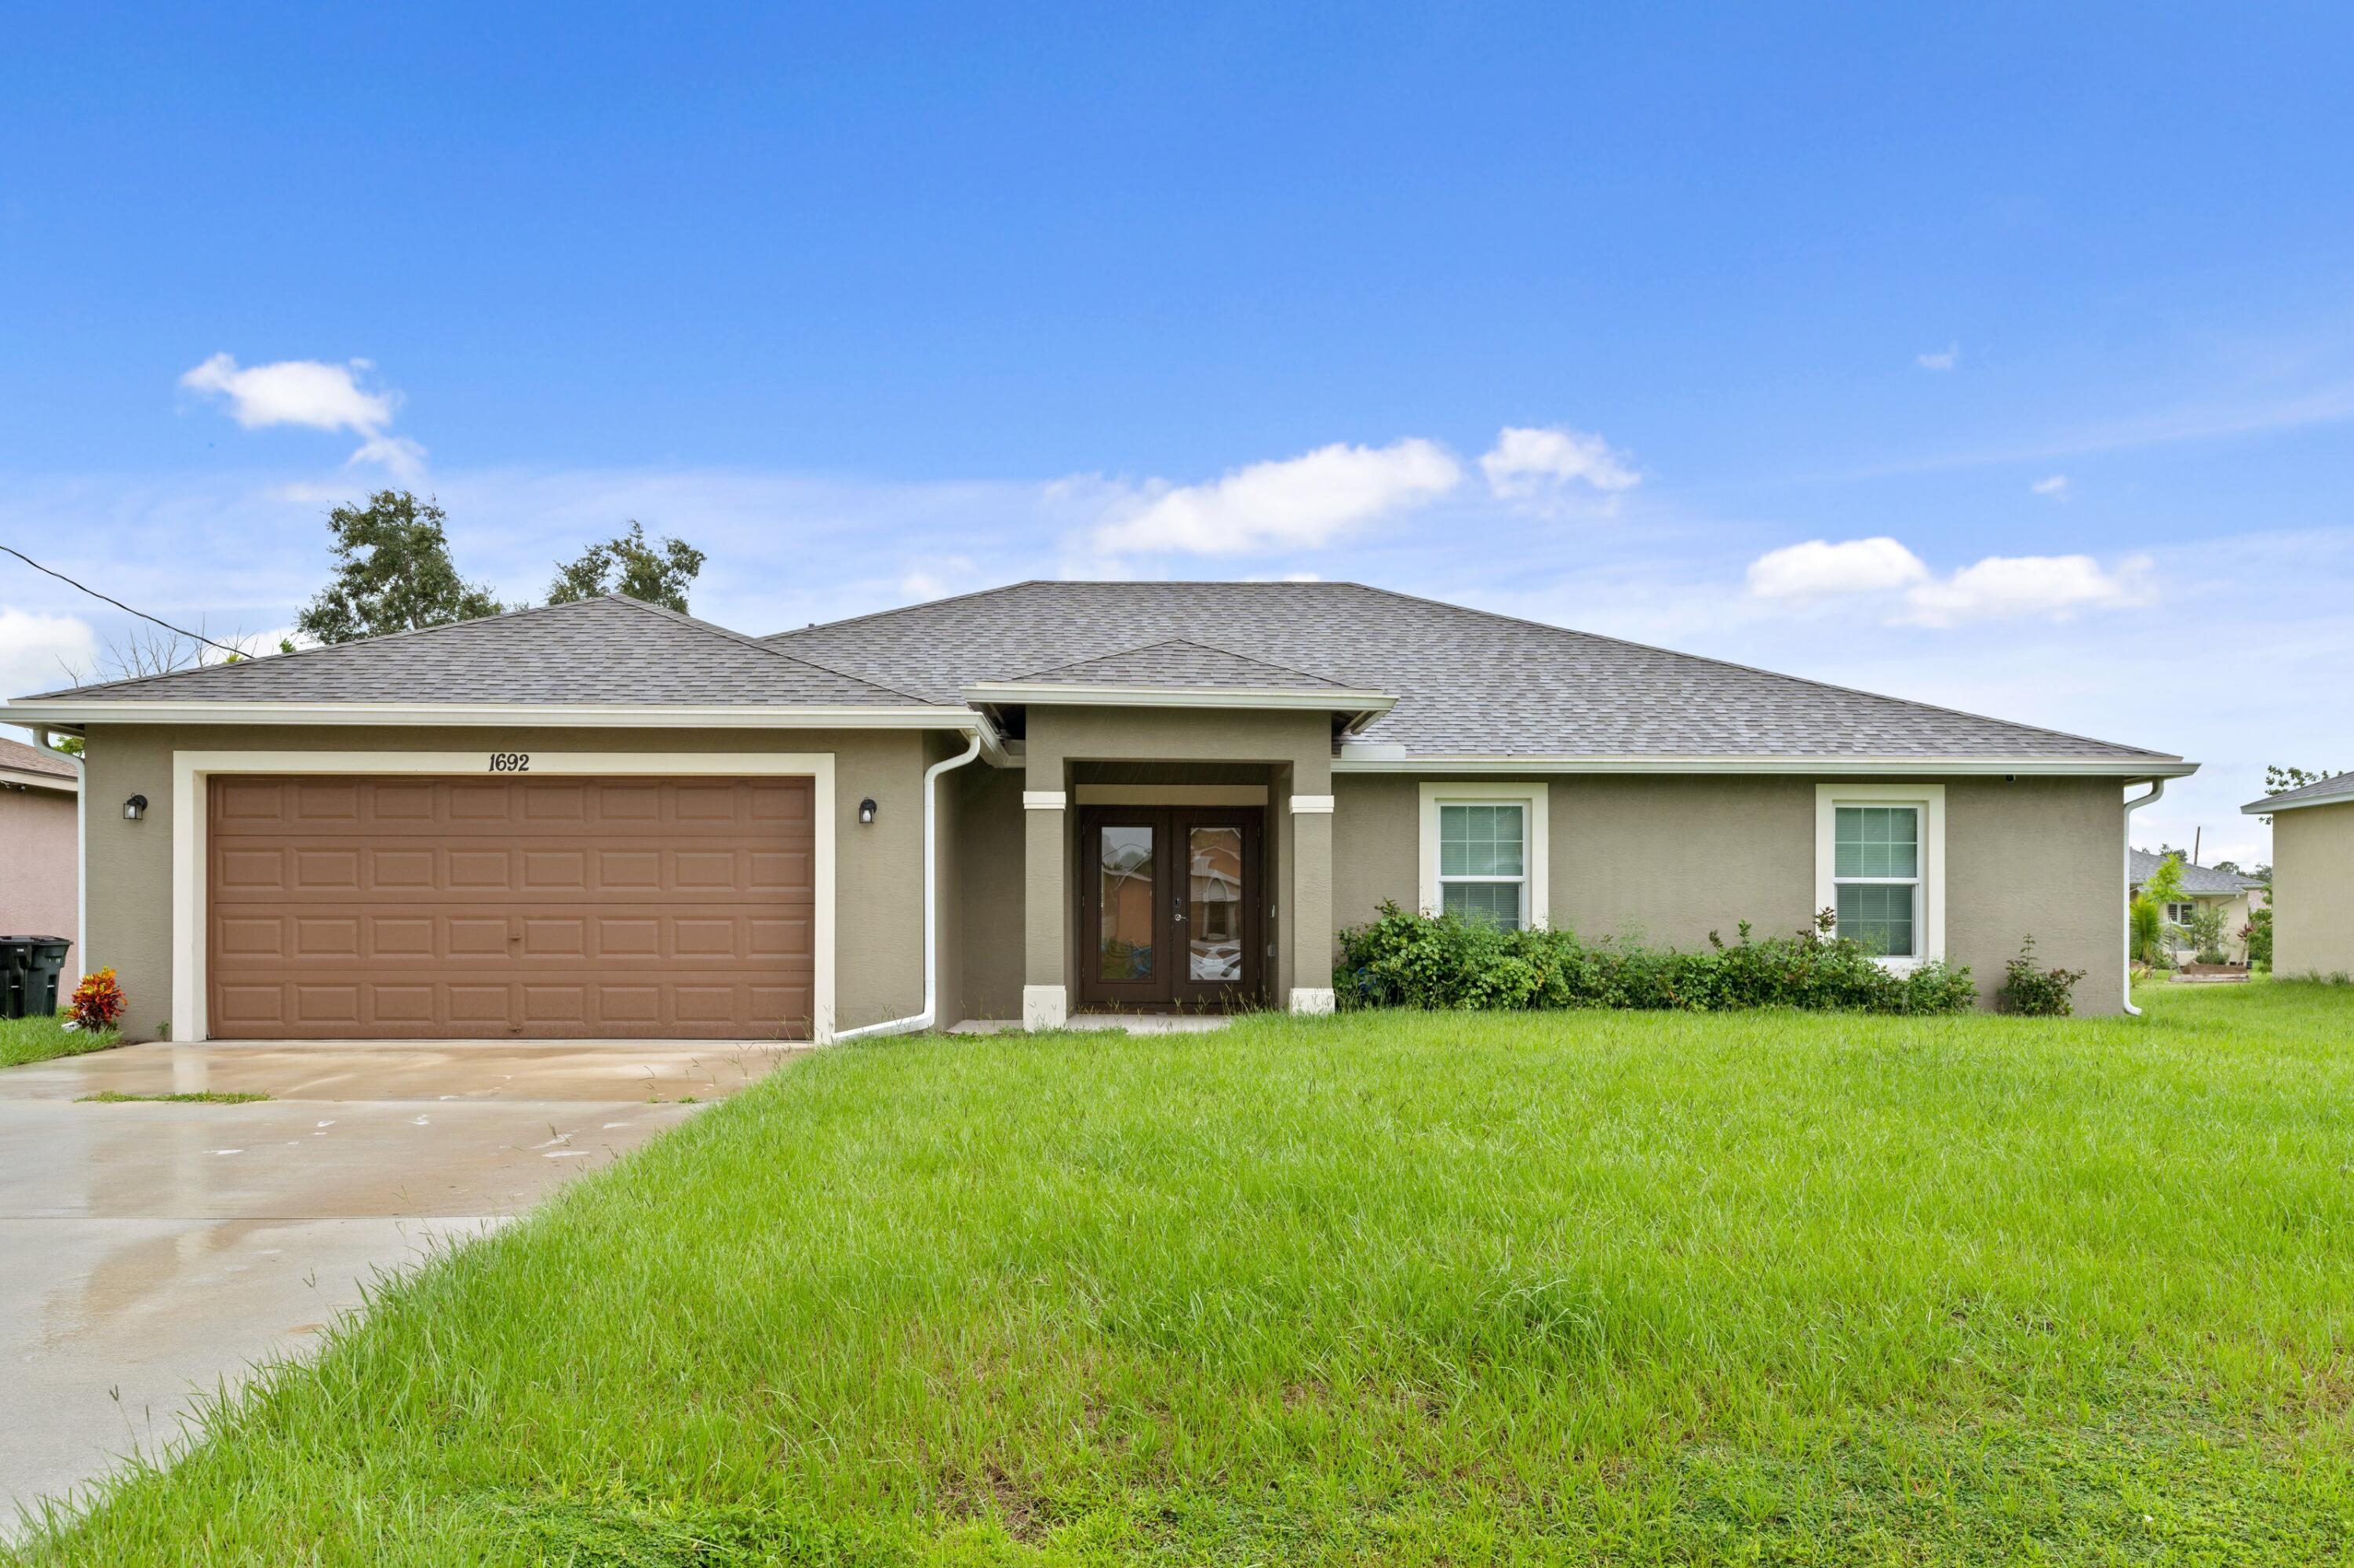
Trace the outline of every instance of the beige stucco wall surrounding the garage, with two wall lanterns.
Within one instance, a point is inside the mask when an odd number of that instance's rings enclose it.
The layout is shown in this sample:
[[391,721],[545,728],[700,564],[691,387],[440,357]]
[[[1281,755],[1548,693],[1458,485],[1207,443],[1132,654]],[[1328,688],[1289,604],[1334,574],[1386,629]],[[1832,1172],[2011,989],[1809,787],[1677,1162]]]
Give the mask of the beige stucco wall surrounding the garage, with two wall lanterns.
[[[836,1029],[923,1008],[923,768],[942,751],[920,730],[485,730],[292,725],[92,725],[89,961],[115,965],[132,1038],[172,1017],[174,751],[621,751],[833,753]],[[951,775],[953,777],[953,775]],[[125,822],[127,796],[144,822]],[[876,822],[862,826],[859,800]],[[106,803],[106,810],[99,810]]]

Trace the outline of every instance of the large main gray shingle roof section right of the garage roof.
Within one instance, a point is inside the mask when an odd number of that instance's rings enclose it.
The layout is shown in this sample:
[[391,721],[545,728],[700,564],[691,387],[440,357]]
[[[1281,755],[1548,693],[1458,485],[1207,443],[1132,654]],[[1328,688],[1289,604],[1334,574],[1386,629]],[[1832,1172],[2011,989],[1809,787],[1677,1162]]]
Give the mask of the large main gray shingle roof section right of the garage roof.
[[765,640],[953,702],[1168,638],[1396,692],[1363,739],[1422,756],[2180,760],[1342,582],[1024,582]]

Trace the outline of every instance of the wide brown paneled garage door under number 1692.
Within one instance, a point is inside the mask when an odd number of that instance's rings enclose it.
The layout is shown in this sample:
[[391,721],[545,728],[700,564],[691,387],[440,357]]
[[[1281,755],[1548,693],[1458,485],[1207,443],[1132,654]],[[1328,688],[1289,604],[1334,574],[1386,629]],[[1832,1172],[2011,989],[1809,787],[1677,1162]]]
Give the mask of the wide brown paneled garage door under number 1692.
[[810,1036],[810,779],[210,793],[214,1038]]

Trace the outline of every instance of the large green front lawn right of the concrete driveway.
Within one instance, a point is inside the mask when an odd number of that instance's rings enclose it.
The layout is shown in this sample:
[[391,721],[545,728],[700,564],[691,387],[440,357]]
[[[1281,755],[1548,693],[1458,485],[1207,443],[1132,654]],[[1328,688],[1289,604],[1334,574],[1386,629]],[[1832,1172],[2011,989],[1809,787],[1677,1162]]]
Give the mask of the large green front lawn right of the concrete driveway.
[[78,1563],[2326,1561],[2354,991],[817,1052]]

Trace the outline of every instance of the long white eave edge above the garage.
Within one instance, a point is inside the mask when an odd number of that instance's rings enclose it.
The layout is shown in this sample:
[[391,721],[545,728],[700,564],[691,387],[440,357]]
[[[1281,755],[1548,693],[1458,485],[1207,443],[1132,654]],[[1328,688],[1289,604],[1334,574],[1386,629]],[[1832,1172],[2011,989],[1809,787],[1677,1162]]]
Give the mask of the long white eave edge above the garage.
[[560,725],[581,730],[975,730],[949,704],[725,702],[12,702],[0,723],[108,725]]

